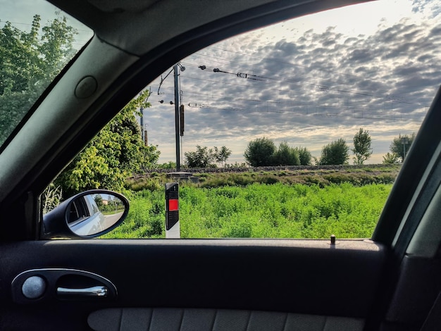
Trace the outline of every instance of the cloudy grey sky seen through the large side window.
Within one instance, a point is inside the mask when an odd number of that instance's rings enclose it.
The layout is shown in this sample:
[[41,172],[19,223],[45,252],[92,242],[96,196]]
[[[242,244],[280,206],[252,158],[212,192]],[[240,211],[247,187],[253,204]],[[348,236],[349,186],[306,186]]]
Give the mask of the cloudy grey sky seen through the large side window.
[[[339,138],[352,148],[363,127],[373,142],[368,163],[381,163],[394,137],[418,132],[440,86],[440,11],[420,0],[349,6],[182,59],[183,153],[197,144],[225,145],[232,150],[228,163],[240,163],[249,141],[268,137],[319,157]],[[173,73],[159,89],[160,81],[148,87],[144,120],[149,144],[159,145],[166,162],[175,160]]]

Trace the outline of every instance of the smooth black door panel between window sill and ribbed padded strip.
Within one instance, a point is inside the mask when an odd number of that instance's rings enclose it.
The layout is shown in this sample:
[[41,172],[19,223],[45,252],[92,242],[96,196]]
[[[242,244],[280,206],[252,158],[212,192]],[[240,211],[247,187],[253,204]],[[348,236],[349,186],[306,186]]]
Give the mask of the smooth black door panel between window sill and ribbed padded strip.
[[[16,242],[1,247],[1,260],[7,266],[0,270],[1,296],[2,302],[8,302],[4,314],[15,316],[12,321],[25,323],[23,313],[30,310],[43,317],[47,330],[58,325],[59,321],[51,319],[54,311],[76,330],[77,323],[85,325],[89,313],[106,307],[217,308],[366,318],[386,253],[383,246],[363,240],[336,244],[284,239]],[[11,256],[15,263],[8,261]],[[67,300],[54,295],[50,302],[13,303],[13,279],[39,268],[95,273],[113,282],[118,295]],[[70,316],[72,310],[77,312],[74,316]],[[32,323],[28,316],[25,320]]]

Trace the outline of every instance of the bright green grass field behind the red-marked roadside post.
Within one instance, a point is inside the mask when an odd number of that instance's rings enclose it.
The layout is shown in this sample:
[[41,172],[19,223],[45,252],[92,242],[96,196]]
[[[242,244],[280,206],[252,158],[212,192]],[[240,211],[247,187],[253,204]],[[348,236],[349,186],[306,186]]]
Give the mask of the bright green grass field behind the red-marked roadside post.
[[[182,238],[368,238],[392,184],[254,182],[180,187]],[[161,185],[126,192],[130,212],[105,238],[165,237]]]

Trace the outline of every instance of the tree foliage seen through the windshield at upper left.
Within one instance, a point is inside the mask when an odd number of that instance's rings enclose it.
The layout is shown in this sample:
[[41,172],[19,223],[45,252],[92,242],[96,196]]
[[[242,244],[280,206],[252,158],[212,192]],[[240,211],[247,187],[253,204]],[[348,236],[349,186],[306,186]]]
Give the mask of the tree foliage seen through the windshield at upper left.
[[35,15],[30,32],[6,22],[0,30],[0,144],[75,53],[73,27],[56,18],[42,27]]

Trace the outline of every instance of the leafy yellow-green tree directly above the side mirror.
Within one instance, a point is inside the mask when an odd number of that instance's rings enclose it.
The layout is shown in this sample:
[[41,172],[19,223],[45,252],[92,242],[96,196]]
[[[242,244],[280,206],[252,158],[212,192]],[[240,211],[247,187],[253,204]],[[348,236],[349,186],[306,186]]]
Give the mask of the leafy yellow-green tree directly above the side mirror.
[[132,99],[56,178],[66,196],[86,189],[120,191],[125,178],[156,163],[156,146],[144,146],[135,114],[147,108],[146,90]]

